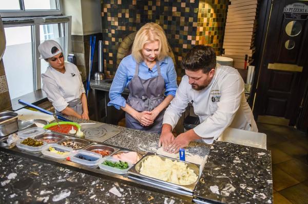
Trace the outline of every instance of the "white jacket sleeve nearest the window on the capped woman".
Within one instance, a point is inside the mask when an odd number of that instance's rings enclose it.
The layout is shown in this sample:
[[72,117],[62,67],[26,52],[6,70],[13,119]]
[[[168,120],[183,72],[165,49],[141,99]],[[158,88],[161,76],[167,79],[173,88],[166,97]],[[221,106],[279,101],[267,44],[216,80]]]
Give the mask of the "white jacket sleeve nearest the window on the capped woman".
[[62,95],[60,94],[59,87],[55,85],[55,82],[52,79],[44,76],[42,76],[42,78],[43,78],[42,89],[46,93],[48,100],[52,103],[53,107],[57,111],[61,112],[68,106],[68,103],[62,97]]

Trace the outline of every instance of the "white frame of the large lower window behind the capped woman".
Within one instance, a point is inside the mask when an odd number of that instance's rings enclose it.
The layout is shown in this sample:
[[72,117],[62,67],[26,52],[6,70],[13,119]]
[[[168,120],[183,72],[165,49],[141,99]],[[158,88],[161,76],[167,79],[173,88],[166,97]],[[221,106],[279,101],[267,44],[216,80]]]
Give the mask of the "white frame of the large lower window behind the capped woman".
[[40,38],[40,25],[46,24],[65,24],[64,35],[66,42],[64,45],[65,60],[67,60],[68,53],[71,53],[71,16],[46,16],[46,17],[23,17],[23,18],[3,18],[4,28],[9,27],[21,27],[32,26],[32,61],[33,61],[33,74],[34,74],[34,89],[38,90],[42,88],[41,79],[41,59],[40,52],[38,52],[38,46],[41,43]]

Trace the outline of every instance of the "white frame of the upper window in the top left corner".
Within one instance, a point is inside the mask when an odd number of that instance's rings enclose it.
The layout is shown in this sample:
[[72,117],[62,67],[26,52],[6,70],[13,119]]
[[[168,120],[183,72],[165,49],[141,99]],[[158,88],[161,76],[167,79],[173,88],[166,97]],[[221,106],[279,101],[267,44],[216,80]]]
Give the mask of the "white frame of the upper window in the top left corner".
[[29,16],[48,16],[48,15],[62,15],[63,3],[62,0],[55,0],[57,9],[49,10],[25,10],[24,0],[20,2],[21,10],[0,10],[2,17],[29,17]]

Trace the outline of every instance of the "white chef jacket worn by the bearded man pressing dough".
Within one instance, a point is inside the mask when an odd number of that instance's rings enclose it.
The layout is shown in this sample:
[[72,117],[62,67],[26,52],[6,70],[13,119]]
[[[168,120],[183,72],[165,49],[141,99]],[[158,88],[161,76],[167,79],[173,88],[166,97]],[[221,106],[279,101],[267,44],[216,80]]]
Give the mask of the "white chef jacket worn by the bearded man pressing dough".
[[163,124],[174,129],[189,102],[200,119],[194,131],[205,143],[213,143],[227,127],[258,131],[244,95],[243,79],[233,67],[218,65],[210,84],[202,90],[192,89],[188,76],[183,76]]

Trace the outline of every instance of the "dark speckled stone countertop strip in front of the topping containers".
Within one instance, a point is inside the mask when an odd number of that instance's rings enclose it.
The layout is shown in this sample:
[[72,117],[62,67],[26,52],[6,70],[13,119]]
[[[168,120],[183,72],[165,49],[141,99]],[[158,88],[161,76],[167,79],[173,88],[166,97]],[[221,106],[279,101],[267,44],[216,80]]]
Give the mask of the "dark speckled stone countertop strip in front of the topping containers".
[[190,203],[0,151],[0,203]]

